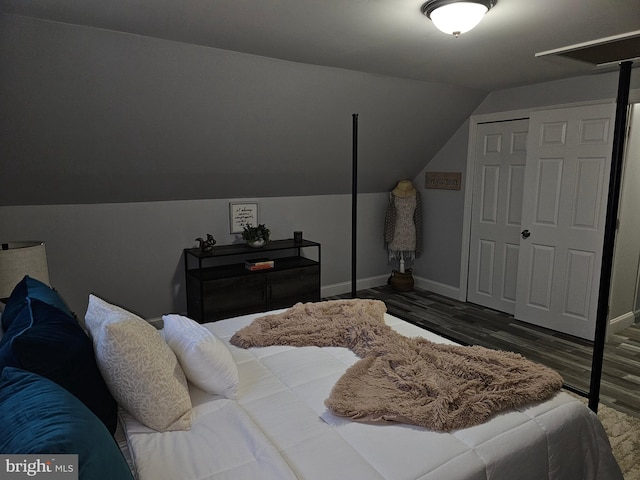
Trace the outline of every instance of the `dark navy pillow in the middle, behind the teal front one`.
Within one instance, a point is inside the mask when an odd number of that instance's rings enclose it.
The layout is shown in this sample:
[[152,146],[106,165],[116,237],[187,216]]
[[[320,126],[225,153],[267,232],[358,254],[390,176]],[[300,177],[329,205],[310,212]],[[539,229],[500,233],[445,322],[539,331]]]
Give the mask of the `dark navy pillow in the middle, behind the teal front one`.
[[114,433],[118,405],[98,369],[91,339],[62,310],[27,299],[0,339],[0,371],[17,367],[54,381],[82,401]]

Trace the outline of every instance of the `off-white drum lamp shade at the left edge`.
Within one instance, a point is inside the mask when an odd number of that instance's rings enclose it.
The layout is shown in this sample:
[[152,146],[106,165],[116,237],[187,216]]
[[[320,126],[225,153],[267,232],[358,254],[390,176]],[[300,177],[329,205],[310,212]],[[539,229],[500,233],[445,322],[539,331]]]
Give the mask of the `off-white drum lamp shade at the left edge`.
[[49,268],[44,242],[0,244],[0,299],[8,298],[25,275],[49,285]]

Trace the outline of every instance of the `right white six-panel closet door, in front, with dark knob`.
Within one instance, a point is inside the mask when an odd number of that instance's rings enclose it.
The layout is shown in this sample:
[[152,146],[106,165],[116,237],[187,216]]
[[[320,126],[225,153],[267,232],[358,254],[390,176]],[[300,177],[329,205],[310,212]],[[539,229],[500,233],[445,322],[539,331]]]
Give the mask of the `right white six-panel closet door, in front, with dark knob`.
[[515,316],[592,340],[615,105],[534,112]]

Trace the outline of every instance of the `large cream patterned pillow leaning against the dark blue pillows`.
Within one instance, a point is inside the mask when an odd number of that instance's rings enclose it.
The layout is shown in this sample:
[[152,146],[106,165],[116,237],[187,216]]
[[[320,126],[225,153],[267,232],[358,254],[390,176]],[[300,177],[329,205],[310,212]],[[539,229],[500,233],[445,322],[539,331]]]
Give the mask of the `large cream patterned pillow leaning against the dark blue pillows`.
[[85,323],[116,401],[158,431],[191,428],[191,398],[178,359],[142,318],[89,295]]

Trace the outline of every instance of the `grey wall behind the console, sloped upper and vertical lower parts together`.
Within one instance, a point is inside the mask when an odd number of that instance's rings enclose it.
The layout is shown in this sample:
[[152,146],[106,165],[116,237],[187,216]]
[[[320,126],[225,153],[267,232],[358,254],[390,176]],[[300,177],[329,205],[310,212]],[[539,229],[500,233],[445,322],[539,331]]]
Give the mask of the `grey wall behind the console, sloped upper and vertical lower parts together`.
[[358,113],[358,278],[384,283],[386,192],[484,96],[0,15],[0,239],[47,242],[77,312],[94,291],[155,316],[184,310],[182,249],[231,241],[229,201],[257,199],[275,238],[323,244],[323,293],[348,292]]

